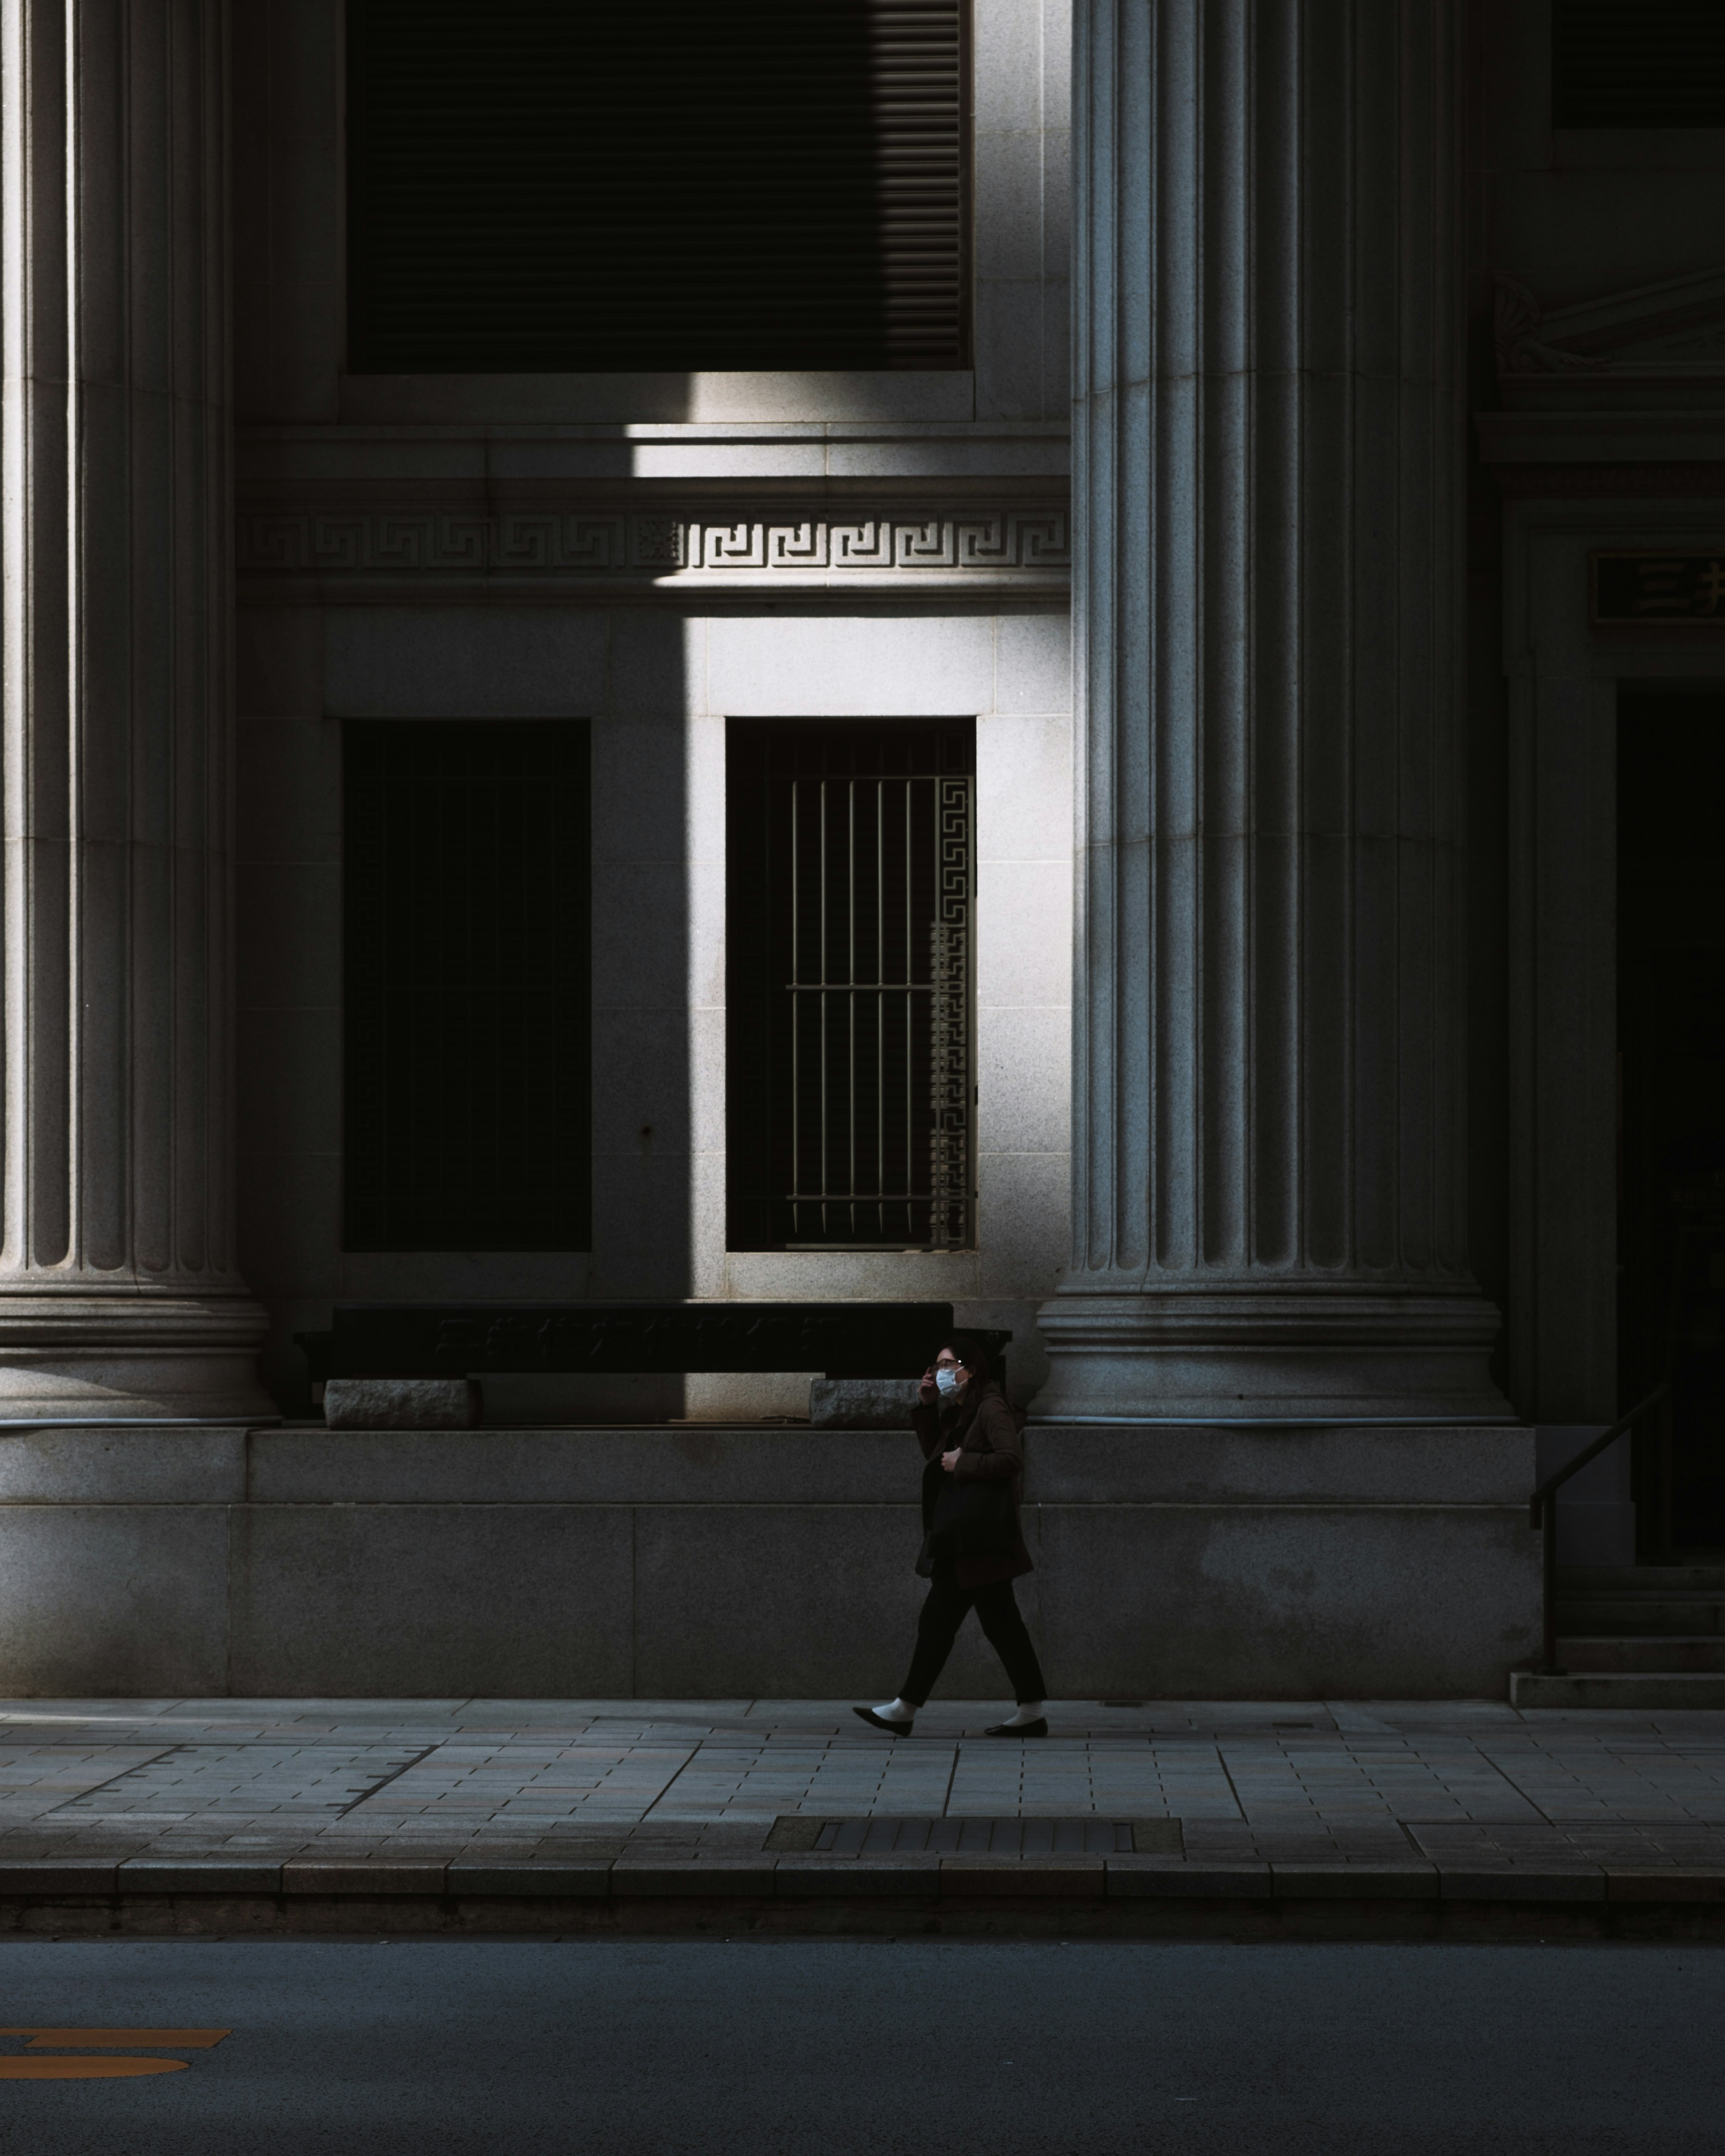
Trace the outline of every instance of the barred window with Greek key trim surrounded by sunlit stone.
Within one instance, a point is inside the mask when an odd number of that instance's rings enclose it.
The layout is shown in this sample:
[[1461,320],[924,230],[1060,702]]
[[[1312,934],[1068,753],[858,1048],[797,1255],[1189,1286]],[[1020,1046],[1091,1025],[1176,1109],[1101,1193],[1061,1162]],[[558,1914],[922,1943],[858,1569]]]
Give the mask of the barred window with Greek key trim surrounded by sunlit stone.
[[729,729],[729,1242],[966,1248],[968,720]]

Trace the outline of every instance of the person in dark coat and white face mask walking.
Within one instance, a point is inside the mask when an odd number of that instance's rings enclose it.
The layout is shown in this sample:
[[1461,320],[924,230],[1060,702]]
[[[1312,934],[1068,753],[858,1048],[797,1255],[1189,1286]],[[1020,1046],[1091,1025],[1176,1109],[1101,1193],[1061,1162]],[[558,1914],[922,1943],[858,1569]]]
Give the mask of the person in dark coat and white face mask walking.
[[947,1341],[923,1373],[910,1425],[925,1460],[923,1554],[916,1570],[929,1580],[929,1593],[899,1697],[852,1712],[871,1729],[910,1736],[916,1710],[947,1667],[957,1628],[975,1608],[1018,1699],[1018,1712],[994,1723],[988,1736],[1046,1738],[1041,1664],[1011,1591],[1011,1583],[1033,1570],[1018,1524],[1024,1445],[1018,1416],[994,1382],[979,1341],[962,1332]]

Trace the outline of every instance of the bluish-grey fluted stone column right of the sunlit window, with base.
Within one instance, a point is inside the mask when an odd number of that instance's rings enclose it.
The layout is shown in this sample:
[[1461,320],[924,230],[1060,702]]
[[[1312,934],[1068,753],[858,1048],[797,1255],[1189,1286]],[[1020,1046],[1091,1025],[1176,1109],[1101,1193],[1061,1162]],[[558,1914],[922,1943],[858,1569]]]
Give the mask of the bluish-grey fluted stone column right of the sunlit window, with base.
[[1037,1414],[1501,1416],[1460,0],[1078,0],[1074,1259]]

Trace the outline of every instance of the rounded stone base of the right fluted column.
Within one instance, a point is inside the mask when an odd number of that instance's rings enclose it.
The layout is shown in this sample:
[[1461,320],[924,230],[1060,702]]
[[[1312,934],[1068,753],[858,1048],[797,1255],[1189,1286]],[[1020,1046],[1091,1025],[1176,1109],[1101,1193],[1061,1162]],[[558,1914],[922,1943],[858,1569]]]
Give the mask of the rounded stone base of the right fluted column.
[[1208,1287],[1044,1302],[1039,1423],[1514,1423],[1477,1291]]

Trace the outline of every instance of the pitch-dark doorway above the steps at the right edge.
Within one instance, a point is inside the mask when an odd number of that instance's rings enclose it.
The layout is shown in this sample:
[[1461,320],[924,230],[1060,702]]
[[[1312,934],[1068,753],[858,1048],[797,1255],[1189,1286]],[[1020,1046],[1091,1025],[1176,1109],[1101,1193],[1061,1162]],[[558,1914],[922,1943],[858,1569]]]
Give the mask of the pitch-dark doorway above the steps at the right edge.
[[1725,1548],[1725,692],[1617,705],[1619,1371],[1645,1557]]

